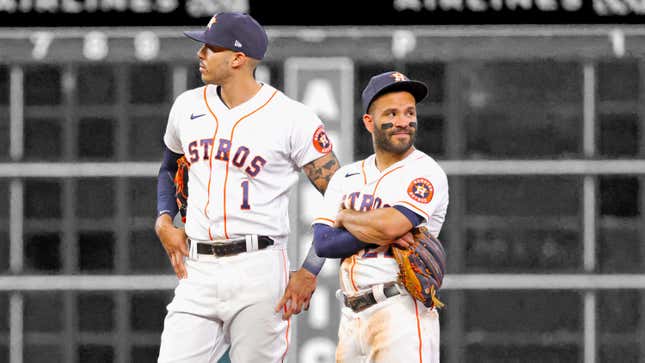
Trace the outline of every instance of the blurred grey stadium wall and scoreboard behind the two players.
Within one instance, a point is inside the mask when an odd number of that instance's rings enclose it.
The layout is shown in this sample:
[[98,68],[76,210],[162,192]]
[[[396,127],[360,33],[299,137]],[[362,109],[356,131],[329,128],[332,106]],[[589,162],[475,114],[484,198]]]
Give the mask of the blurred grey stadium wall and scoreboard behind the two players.
[[[0,1],[0,362],[155,361],[176,283],[152,230],[161,136],[200,84],[181,31],[231,9],[267,24],[258,78],[319,113],[342,163],[371,153],[372,74],[430,85],[417,147],[451,187],[442,361],[645,362],[645,4],[304,4]],[[319,198],[293,194],[292,266]],[[337,266],[291,362],[333,361]]]

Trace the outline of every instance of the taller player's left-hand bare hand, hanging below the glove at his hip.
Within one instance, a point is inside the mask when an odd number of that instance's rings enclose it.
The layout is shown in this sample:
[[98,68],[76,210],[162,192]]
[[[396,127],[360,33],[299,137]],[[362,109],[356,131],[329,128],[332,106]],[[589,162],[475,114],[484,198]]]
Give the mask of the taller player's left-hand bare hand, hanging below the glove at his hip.
[[184,257],[188,256],[186,232],[182,228],[175,227],[168,214],[162,214],[157,218],[155,232],[164,250],[166,250],[177,277],[179,279],[188,277],[186,266],[184,265]]

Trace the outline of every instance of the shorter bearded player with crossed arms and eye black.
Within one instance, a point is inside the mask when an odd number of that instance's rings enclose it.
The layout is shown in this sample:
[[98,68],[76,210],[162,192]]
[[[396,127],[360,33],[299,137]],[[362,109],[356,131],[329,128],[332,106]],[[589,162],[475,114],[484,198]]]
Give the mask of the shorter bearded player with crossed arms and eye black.
[[407,247],[417,226],[437,236],[448,207],[446,174],[413,146],[427,92],[399,72],[371,78],[363,123],[375,153],[339,169],[314,221],[316,253],[343,258],[337,362],[439,362],[437,311],[397,284],[391,249]]

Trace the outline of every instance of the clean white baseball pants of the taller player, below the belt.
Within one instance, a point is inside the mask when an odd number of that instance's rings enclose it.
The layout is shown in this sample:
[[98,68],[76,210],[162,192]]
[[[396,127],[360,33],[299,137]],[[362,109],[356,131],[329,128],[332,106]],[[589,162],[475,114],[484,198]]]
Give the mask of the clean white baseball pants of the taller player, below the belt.
[[[284,247],[186,259],[161,335],[159,363],[283,362],[290,322],[273,309],[289,278]],[[204,261],[205,260],[205,261]]]

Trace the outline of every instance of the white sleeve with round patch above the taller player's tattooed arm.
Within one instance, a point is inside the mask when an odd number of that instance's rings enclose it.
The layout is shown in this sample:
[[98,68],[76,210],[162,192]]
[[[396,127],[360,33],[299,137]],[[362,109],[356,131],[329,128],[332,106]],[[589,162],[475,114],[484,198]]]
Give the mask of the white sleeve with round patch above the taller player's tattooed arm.
[[316,114],[304,106],[296,112],[291,133],[291,159],[302,168],[308,163],[327,155],[332,144],[325,127]]

